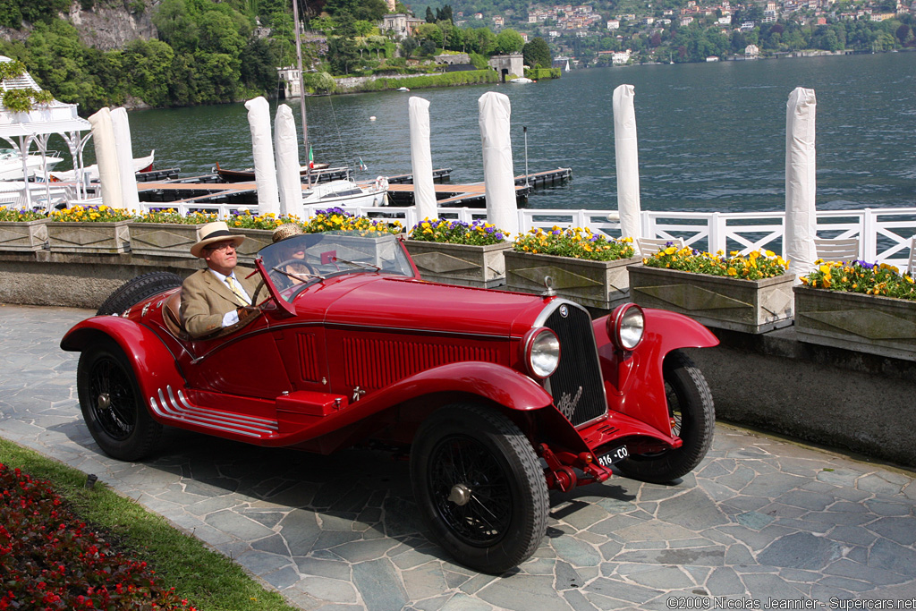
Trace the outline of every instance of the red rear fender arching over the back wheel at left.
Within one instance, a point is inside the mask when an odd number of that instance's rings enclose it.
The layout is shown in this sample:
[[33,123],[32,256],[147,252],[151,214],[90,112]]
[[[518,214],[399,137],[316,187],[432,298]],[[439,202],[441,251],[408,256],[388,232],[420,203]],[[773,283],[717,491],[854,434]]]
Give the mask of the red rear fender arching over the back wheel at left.
[[[102,336],[113,339],[127,355],[147,408],[149,398],[157,395],[158,388],[170,386],[178,391],[185,387],[175,357],[156,333],[125,318],[95,316],[78,322],[60,340],[60,348],[70,352],[82,352]],[[168,422],[159,418],[152,410],[150,415],[160,422]]]

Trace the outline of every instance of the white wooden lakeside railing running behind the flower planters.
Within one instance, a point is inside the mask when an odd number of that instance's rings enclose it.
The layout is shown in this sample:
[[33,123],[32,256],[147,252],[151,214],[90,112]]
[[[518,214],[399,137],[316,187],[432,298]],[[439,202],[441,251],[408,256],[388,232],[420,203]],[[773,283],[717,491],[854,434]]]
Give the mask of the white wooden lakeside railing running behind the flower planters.
[[[226,217],[241,210],[257,212],[257,206],[242,206],[212,202],[146,202],[149,208],[173,208],[180,213],[202,211]],[[303,218],[328,204],[303,206]],[[417,224],[413,206],[352,206],[347,212],[372,218],[398,220],[408,229]],[[486,218],[483,208],[440,208],[441,218],[457,219],[467,223]],[[747,254],[752,250],[772,250],[785,256],[782,249],[785,213],[689,213],[680,211],[642,212],[642,232],[645,237],[681,237],[686,245],[698,250],[725,253],[733,250]],[[537,210],[518,211],[518,226],[522,233],[532,227],[548,228],[588,227],[594,233],[619,236],[620,222],[616,211],[608,210]],[[916,235],[916,208],[885,208],[873,210],[818,211],[817,235],[819,237],[857,237],[862,247],[859,256],[868,262],[888,263],[907,267],[910,256],[910,239]]]

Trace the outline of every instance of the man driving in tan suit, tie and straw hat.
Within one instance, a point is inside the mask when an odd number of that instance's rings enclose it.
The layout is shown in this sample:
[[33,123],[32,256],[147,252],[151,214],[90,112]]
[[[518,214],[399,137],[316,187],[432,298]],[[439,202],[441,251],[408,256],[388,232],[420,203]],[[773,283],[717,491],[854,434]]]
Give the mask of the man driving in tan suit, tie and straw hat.
[[191,255],[207,262],[181,285],[181,322],[193,338],[231,327],[256,311],[259,295],[254,280],[236,276],[236,249],[245,235],[234,235],[224,221],[203,225]]

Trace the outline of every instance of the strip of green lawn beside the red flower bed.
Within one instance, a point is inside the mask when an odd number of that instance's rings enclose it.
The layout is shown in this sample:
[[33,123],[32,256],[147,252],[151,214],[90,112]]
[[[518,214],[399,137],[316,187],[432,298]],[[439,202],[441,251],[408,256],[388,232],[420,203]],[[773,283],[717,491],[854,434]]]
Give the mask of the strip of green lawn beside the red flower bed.
[[292,611],[281,595],[268,592],[240,566],[173,529],[156,514],[119,496],[101,482],[92,489],[86,474],[13,442],[0,439],[0,463],[48,480],[80,518],[114,535],[115,546],[145,561],[182,598],[206,611]]

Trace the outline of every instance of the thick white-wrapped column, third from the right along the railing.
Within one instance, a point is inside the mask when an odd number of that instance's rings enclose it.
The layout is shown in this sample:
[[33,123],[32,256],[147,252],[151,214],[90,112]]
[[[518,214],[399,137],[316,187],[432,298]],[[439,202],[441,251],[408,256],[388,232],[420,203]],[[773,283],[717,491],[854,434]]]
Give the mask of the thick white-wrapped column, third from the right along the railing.
[[487,92],[480,96],[477,106],[480,138],[484,145],[487,220],[515,237],[518,235],[518,204],[509,138],[509,98],[503,93]]

